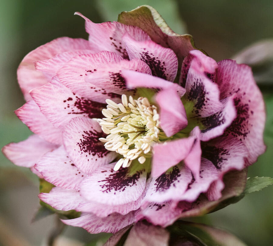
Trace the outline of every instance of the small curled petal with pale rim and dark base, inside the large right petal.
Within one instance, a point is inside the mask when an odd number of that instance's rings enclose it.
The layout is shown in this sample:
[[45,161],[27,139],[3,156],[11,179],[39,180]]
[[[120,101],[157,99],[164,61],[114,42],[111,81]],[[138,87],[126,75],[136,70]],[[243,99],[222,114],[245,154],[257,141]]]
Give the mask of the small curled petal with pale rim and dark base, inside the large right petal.
[[234,106],[234,96],[227,97],[221,100],[223,103],[222,109],[206,118],[199,118],[198,122],[201,123],[201,140],[208,141],[217,136],[221,136],[225,129],[231,125],[236,118],[236,109]]

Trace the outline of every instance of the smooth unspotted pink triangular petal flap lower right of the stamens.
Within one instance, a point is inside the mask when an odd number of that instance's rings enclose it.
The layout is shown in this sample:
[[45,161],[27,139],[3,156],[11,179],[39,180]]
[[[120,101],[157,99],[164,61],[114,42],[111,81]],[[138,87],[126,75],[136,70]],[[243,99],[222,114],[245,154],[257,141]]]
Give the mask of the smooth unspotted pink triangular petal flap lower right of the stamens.
[[158,177],[170,167],[187,157],[194,143],[194,137],[178,139],[153,146],[152,177]]

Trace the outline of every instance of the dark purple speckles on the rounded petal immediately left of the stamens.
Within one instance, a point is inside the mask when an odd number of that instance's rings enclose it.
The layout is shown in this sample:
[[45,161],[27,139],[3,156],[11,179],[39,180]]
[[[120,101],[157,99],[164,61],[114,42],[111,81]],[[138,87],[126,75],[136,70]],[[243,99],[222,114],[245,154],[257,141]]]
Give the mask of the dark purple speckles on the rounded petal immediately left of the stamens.
[[[99,141],[100,137],[105,137],[105,134],[102,132],[99,133],[94,129],[92,131],[83,131],[82,138],[77,143],[80,148],[79,153],[87,153],[92,156],[97,155],[100,158],[106,156],[109,151],[105,149],[103,144]],[[93,160],[93,157],[90,159]]]

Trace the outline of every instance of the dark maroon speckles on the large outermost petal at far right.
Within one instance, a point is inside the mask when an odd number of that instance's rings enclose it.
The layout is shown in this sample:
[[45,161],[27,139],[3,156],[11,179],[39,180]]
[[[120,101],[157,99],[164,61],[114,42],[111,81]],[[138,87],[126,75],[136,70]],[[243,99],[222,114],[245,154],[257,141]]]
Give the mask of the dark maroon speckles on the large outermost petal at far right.
[[[237,137],[239,140],[245,139],[250,130],[248,129],[249,119],[249,105],[241,102],[240,98],[234,99],[234,105],[236,107],[237,117],[226,129],[224,135],[231,134]],[[250,112],[253,114],[253,111]]]

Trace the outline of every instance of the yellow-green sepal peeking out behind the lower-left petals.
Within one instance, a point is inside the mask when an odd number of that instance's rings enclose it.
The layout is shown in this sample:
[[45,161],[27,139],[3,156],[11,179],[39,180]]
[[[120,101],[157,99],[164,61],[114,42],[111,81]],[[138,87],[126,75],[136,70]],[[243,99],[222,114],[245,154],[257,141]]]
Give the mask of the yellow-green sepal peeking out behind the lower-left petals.
[[[39,180],[40,180],[40,185],[39,185],[40,193],[49,193],[51,191],[51,189],[53,187],[55,187],[55,185],[45,181],[44,179],[39,179]],[[81,212],[77,212],[76,210],[69,210],[69,211],[57,210],[41,200],[40,200],[40,205],[43,208],[51,211],[51,213],[49,211],[45,212],[46,210],[43,210],[43,209],[41,209],[41,211],[40,211],[40,209],[39,209],[37,214],[34,216],[34,219],[36,218],[37,215],[38,215],[38,219],[39,219],[39,216],[40,216],[39,211],[43,212],[44,214],[47,214],[47,215],[56,213],[59,217],[62,217],[62,218],[66,217],[68,219],[78,218],[81,215]],[[43,217],[45,217],[45,216],[43,216]],[[42,217],[40,217],[40,218],[42,218]]]

